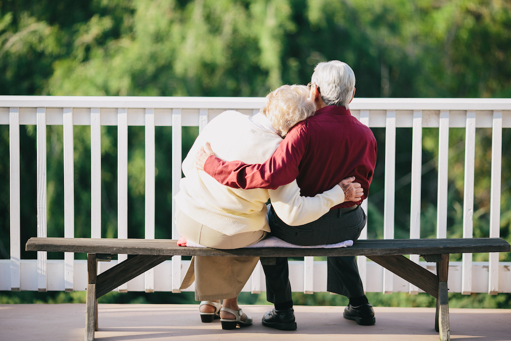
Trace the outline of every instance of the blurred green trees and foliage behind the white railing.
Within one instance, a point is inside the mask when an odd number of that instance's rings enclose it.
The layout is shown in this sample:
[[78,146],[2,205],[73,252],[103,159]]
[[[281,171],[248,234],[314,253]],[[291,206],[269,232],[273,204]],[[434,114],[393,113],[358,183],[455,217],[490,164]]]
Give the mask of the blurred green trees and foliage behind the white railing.
[[[319,61],[339,59],[357,76],[357,97],[511,97],[511,4],[503,0],[0,0],[0,94],[79,96],[265,96],[307,84]],[[22,244],[36,235],[35,126],[21,126]],[[48,126],[48,235],[63,236],[62,127]],[[501,236],[511,241],[511,129],[503,130]],[[385,131],[373,129],[378,164],[369,238],[383,237]],[[183,156],[197,136],[183,128]],[[130,238],[144,235],[144,129],[129,127]],[[489,236],[491,129],[476,131],[474,236]],[[76,126],[75,235],[90,236],[90,130]],[[156,238],[170,238],[171,137],[156,127]],[[409,236],[411,129],[398,128],[396,238]],[[102,235],[117,236],[117,128],[102,127]],[[438,129],[423,131],[421,237],[436,231]],[[448,237],[462,234],[464,129],[449,136]],[[0,126],[0,155],[9,153]],[[9,168],[0,163],[0,257],[9,258]],[[50,254],[49,258],[62,255]],[[83,257],[83,255],[77,255]],[[22,251],[22,258],[36,258]],[[452,255],[451,260],[460,260]],[[510,261],[509,254],[501,254]],[[487,254],[474,255],[487,260]],[[74,302],[80,293],[6,293],[2,302]],[[130,296],[131,295],[131,296]],[[115,295],[122,302],[191,297]],[[430,305],[403,294],[376,305]],[[243,295],[246,302],[261,298]],[[473,295],[474,296],[474,295]],[[461,306],[509,307],[497,298],[453,295]],[[456,299],[459,297],[459,300]],[[67,301],[66,301],[67,300]],[[138,300],[138,301],[137,301]],[[258,301],[259,300],[259,301]],[[312,300],[312,301],[311,301]],[[302,304],[344,304],[336,295],[295,294]],[[113,302],[112,301],[112,302]],[[110,301],[109,301],[110,302]],[[392,303],[394,302],[394,303]],[[419,302],[419,303],[417,303]]]

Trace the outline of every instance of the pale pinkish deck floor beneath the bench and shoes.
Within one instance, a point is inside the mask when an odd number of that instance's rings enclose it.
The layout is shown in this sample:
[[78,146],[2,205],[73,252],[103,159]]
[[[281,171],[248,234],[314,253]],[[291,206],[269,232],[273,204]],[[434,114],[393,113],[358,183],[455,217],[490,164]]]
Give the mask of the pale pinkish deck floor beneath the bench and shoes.
[[[100,304],[96,340],[438,340],[432,308],[376,307],[376,325],[342,318],[343,307],[295,306],[298,330],[261,325],[271,306],[242,306],[250,327],[222,330],[220,321],[201,323],[197,305]],[[511,309],[450,309],[451,339],[511,340]],[[0,340],[83,340],[84,304],[0,305]],[[171,338],[172,337],[172,338]]]

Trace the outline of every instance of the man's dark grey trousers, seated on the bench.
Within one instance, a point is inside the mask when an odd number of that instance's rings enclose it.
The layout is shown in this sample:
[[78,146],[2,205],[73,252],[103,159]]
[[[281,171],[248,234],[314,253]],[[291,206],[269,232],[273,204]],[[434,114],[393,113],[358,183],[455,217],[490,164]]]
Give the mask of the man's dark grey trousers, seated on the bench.
[[[311,223],[290,226],[275,214],[268,211],[271,235],[296,245],[321,245],[338,243],[344,240],[357,240],[365,226],[367,216],[360,206],[349,212],[342,209],[331,210]],[[287,257],[277,257],[275,265],[265,265],[266,299],[271,303],[291,301],[289,265]],[[350,257],[327,258],[327,291],[346,297],[364,295],[362,280],[358,273],[357,260]]]

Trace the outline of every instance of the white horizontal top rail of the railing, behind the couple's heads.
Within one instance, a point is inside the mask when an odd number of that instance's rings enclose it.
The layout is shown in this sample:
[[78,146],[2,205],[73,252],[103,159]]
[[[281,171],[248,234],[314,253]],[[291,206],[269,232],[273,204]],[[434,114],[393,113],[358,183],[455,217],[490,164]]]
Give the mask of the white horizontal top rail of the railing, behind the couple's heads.
[[[257,109],[264,97],[0,96],[0,107]],[[509,98],[355,98],[353,110],[511,110]]]

